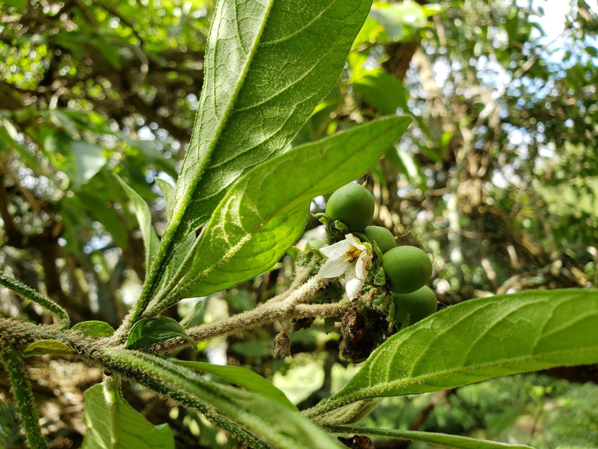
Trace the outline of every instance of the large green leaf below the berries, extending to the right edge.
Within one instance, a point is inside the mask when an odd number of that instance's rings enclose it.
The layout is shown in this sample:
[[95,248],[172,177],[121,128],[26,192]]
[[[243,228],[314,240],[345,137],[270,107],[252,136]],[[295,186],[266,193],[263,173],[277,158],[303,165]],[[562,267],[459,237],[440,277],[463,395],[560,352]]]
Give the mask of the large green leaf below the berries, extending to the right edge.
[[366,398],[585,363],[598,363],[598,290],[529,290],[471,299],[390,337],[343,390],[307,414]]

